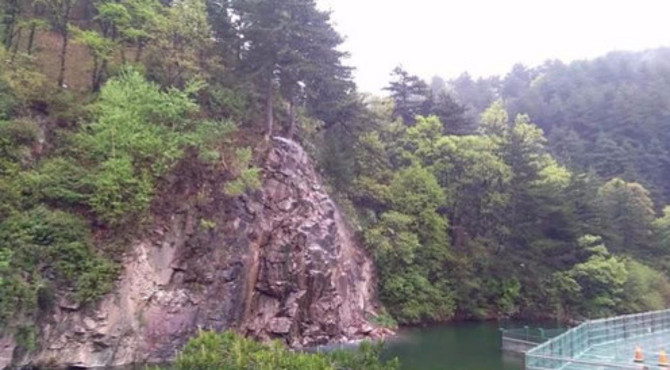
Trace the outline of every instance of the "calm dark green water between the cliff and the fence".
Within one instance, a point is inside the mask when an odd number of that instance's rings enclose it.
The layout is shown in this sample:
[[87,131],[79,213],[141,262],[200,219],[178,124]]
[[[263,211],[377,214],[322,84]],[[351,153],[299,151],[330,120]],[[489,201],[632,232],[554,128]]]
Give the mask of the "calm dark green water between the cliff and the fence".
[[397,356],[407,370],[523,369],[521,357],[500,350],[497,323],[401,329],[397,338],[386,343],[383,356]]

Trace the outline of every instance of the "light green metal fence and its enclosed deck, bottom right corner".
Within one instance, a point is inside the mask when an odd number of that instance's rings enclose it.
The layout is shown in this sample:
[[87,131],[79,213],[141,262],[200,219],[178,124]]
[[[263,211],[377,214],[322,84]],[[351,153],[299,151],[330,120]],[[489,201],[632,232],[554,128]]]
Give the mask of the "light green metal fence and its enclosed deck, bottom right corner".
[[656,369],[633,362],[636,346],[648,354],[670,350],[670,310],[592,320],[526,353],[526,369]]

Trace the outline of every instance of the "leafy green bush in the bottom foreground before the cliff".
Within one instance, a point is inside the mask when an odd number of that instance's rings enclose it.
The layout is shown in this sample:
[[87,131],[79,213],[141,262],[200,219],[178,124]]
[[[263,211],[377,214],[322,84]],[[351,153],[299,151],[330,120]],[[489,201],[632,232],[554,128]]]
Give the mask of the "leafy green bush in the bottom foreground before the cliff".
[[233,332],[203,331],[177,356],[177,369],[397,369],[397,360],[382,363],[380,346],[364,343],[357,351],[331,354],[291,352],[279,342],[263,344]]

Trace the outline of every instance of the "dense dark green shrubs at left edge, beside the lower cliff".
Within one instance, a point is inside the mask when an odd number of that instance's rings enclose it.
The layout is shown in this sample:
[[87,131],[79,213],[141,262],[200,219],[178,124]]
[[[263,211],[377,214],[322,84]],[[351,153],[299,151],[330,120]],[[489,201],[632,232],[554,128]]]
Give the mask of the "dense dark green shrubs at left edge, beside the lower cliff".
[[106,293],[115,267],[98,257],[88,225],[46,207],[16,212],[0,222],[0,317],[37,313],[39,290],[55,284],[73,289],[80,302]]

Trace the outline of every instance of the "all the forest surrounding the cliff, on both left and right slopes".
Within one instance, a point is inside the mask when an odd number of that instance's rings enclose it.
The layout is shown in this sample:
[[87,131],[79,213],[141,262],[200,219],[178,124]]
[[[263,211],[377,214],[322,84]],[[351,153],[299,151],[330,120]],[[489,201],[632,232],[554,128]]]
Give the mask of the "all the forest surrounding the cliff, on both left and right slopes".
[[477,80],[397,68],[381,98],[313,0],[0,4],[0,330],[24,350],[55,301],[113,288],[181,178],[260,186],[273,135],[317,160],[377,262],[380,324],[670,302],[667,49]]

